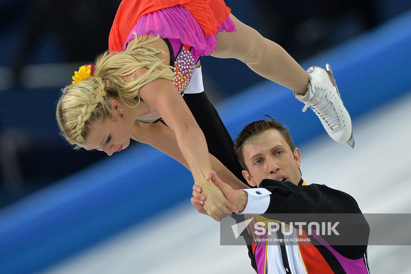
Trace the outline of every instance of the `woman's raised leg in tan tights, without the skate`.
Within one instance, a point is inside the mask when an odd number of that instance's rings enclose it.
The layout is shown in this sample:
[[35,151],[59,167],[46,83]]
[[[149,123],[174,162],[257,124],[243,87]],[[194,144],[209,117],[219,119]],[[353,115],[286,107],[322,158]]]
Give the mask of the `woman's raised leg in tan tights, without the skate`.
[[281,46],[264,38],[253,28],[239,21],[233,33],[217,33],[217,49],[212,56],[236,58],[257,74],[301,94],[307,92],[308,75]]

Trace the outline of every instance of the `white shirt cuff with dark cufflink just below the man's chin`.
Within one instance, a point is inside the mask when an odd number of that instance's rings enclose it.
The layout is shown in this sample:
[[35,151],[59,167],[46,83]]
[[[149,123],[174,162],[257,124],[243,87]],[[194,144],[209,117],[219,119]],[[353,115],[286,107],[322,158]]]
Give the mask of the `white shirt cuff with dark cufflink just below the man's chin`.
[[263,214],[270,205],[271,192],[265,188],[242,189],[247,192],[248,201],[245,209],[239,214]]

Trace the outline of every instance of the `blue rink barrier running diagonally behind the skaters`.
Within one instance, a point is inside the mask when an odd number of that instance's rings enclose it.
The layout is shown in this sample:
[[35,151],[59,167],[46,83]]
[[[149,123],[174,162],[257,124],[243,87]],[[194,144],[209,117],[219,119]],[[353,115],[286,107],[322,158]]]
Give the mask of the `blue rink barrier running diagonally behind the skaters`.
[[[303,64],[331,64],[354,130],[356,116],[411,91],[409,22],[411,12]],[[233,135],[271,114],[300,146],[324,134],[302,107],[289,90],[267,81],[217,109]],[[189,204],[192,183],[182,165],[149,146],[116,153],[0,211],[0,273],[37,272],[164,209]]]

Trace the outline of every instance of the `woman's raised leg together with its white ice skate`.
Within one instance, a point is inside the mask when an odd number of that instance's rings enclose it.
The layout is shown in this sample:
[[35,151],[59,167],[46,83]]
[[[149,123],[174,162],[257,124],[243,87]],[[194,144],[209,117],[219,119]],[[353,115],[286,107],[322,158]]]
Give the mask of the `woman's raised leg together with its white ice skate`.
[[[217,49],[212,56],[241,60],[257,74],[295,91],[294,96],[305,103],[303,111],[307,107],[315,109],[332,139],[339,143],[348,142],[354,147],[351,118],[337,93],[330,69],[311,67],[309,78],[307,72],[281,46],[264,38],[233,14],[230,18],[236,23],[237,31],[217,33]],[[317,92],[324,87],[327,87],[325,93]]]

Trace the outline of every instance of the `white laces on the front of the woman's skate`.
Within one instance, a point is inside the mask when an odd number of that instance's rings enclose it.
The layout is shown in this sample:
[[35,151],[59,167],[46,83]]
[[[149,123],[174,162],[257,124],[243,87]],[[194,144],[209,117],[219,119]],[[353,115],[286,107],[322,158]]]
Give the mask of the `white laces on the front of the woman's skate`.
[[[302,111],[306,111],[310,107],[320,118],[323,125],[332,131],[339,130],[341,128],[341,123],[337,115],[337,110],[335,109],[333,102],[331,102],[327,95],[331,95],[324,88],[316,87],[316,93],[314,98],[309,102],[305,103]],[[335,98],[334,98],[335,100]]]

